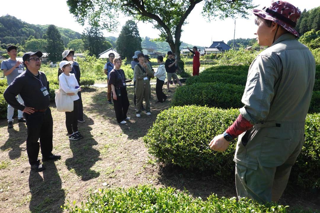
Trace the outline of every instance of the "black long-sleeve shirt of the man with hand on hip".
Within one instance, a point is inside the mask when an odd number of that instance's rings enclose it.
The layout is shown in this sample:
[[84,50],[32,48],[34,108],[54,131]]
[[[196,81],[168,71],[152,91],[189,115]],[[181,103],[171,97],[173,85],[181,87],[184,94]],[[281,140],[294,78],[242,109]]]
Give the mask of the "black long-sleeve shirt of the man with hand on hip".
[[[8,88],[4,91],[4,99],[15,109],[24,110],[25,106],[42,110],[49,107],[49,95],[43,94],[42,87],[50,91],[49,82],[43,72],[38,72],[35,76],[28,68],[16,77]],[[40,82],[41,80],[41,82]],[[24,105],[20,104],[16,96],[20,94]]]

